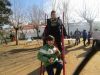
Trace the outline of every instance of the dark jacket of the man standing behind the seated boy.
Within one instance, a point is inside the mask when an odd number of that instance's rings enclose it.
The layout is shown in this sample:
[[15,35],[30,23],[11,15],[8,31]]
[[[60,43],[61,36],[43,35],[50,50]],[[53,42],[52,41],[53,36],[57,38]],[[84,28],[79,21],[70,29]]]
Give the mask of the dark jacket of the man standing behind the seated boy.
[[55,37],[56,42],[61,42],[62,27],[63,27],[64,36],[67,36],[66,30],[65,30],[64,25],[62,24],[62,21],[59,18],[57,18],[55,26],[52,26],[51,23],[52,23],[51,19],[47,19],[47,25],[44,30],[44,37],[47,37],[48,35],[52,35]]

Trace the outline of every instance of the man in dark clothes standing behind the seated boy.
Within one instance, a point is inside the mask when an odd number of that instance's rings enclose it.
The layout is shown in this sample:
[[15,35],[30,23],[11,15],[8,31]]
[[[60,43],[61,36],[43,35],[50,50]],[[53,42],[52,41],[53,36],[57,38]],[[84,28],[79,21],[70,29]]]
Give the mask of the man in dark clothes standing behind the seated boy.
[[51,18],[47,19],[47,26],[44,30],[44,37],[52,35],[55,38],[55,45],[58,47],[61,53],[62,53],[62,46],[61,46],[62,27],[64,36],[67,36],[66,30],[62,24],[61,19],[56,17],[56,11],[54,10],[51,11]]

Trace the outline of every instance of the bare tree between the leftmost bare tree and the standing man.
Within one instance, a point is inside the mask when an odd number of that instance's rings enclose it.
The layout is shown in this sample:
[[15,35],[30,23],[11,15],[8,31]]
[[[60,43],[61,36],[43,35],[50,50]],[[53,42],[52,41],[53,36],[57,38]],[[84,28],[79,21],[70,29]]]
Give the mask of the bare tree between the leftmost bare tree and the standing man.
[[40,32],[39,25],[40,25],[41,20],[44,20],[44,18],[45,18],[45,13],[42,10],[42,8],[39,8],[36,5],[33,5],[31,12],[29,13],[29,19],[34,29],[36,29],[38,38],[39,38],[39,32]]

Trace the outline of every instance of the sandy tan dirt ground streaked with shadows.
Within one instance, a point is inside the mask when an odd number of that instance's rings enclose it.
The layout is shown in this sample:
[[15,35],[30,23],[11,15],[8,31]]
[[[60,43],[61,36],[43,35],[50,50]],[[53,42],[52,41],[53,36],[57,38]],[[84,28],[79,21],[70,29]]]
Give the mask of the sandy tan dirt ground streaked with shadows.
[[[19,46],[0,46],[0,75],[39,75],[40,61],[37,52],[41,43],[20,43]],[[84,47],[66,45],[66,75],[72,75],[76,67],[83,60],[91,46]],[[100,75],[100,52],[98,52],[80,75]],[[45,73],[45,75],[47,75]]]

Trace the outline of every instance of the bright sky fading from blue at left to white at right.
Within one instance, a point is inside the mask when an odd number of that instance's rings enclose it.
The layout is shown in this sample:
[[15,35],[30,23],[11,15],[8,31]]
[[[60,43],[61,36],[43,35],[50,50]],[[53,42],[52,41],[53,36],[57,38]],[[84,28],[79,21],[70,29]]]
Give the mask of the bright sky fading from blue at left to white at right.
[[[33,5],[37,5],[38,7],[43,8],[43,10],[50,15],[50,11],[52,9],[57,10],[57,16],[62,16],[62,11],[59,11],[59,7],[62,8],[61,3],[66,2],[67,0],[56,0],[56,4],[53,4],[55,0],[10,0],[12,4],[12,8],[15,4],[18,4],[18,7],[21,7],[24,10],[29,9]],[[98,15],[96,16],[96,20],[100,21],[100,0],[70,0],[69,2],[69,16],[72,19],[80,19],[79,15],[77,15],[78,11],[82,10],[83,1],[88,6],[88,9],[93,9],[94,11],[98,12]],[[55,8],[54,8],[55,6]],[[74,16],[74,17],[73,17]]]

